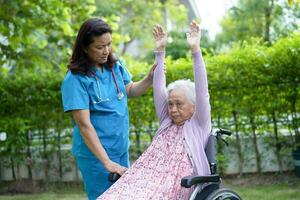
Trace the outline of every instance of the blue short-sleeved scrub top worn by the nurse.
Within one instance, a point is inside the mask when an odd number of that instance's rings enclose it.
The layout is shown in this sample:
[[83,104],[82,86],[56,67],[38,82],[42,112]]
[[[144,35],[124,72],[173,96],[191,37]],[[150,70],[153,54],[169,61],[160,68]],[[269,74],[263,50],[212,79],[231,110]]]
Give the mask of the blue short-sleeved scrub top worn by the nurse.
[[[118,99],[118,90],[112,72],[103,68],[103,72],[93,68],[95,75],[67,72],[62,83],[62,101],[64,111],[90,110],[90,120],[101,144],[111,157],[121,156],[129,148],[129,117],[125,86],[131,82],[131,75],[118,61],[114,74],[124,97]],[[77,124],[73,129],[72,153],[75,156],[95,158],[86,146]]]

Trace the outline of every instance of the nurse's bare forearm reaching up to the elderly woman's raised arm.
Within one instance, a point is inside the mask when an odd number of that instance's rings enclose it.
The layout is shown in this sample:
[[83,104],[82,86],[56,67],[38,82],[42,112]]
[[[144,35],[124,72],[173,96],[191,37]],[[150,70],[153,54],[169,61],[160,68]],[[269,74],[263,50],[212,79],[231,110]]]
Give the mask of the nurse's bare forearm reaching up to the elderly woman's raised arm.
[[137,97],[142,95],[153,82],[153,72],[156,67],[156,64],[152,66],[149,71],[149,74],[145,76],[142,80],[137,82],[131,82],[126,85],[127,97]]

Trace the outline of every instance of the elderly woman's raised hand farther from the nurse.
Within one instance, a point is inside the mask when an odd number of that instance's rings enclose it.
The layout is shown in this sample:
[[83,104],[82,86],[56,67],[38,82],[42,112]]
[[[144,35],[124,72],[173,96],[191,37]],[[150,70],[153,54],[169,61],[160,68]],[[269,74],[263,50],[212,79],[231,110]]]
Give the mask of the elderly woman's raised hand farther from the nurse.
[[200,51],[200,38],[201,31],[199,25],[195,21],[192,21],[190,24],[190,31],[186,33],[186,40],[192,52]]

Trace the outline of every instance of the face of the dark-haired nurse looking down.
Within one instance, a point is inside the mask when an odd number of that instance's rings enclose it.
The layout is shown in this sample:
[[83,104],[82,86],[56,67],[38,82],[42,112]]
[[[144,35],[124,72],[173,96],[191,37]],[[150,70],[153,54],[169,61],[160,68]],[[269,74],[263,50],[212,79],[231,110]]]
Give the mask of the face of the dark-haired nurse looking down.
[[85,53],[94,65],[106,63],[109,52],[111,52],[110,33],[94,37],[94,41],[85,49]]

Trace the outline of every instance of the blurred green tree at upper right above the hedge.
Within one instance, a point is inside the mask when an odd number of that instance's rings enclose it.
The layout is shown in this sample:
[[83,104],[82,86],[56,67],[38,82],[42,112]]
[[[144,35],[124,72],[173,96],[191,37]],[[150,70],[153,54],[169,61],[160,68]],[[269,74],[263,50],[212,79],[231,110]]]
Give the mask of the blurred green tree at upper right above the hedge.
[[239,0],[221,22],[216,36],[218,48],[238,41],[258,38],[268,44],[286,36],[299,26],[299,6],[274,0]]

